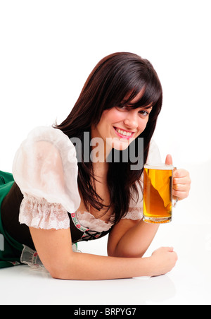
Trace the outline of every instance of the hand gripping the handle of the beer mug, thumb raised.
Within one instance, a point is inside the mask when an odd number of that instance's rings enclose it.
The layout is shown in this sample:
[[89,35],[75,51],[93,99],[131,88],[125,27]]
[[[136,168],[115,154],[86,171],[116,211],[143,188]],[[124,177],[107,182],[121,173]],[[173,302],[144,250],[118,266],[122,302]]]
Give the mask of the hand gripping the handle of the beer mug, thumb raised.
[[[165,164],[172,164],[172,156],[167,155]],[[188,197],[191,189],[191,178],[188,171],[185,169],[175,169],[173,173],[173,191],[172,195],[178,200],[182,200]]]

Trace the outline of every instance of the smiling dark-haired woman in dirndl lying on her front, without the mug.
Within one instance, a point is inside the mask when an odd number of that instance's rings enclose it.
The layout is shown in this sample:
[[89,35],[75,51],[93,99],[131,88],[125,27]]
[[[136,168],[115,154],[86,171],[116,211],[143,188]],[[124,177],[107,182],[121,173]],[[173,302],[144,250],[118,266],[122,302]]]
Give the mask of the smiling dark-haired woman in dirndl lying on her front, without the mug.
[[[67,119],[35,128],[15,155],[13,176],[0,174],[1,267],[42,263],[54,278],[84,280],[169,272],[173,248],[142,258],[158,224],[142,220],[139,159],[160,161],[151,138],[161,107],[149,61],[125,52],[101,60]],[[175,171],[173,195],[186,198],[190,183],[187,171]],[[72,249],[108,233],[108,257]]]

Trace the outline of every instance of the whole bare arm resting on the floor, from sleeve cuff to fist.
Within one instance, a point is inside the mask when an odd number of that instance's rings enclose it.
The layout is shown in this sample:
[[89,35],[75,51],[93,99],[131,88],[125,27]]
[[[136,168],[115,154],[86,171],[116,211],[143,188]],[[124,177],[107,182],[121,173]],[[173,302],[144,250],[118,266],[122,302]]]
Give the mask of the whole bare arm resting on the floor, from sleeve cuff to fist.
[[172,270],[177,254],[172,248],[160,248],[148,258],[116,258],[73,253],[70,229],[30,227],[41,262],[54,278],[101,280],[162,275]]

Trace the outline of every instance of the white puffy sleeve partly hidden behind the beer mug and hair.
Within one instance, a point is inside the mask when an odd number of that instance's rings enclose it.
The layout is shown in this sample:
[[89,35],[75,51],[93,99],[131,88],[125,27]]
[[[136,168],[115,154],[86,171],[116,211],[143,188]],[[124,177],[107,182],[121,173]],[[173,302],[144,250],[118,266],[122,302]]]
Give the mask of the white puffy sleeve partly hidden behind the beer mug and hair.
[[[151,140],[146,162],[148,164],[160,164],[162,162],[158,145],[154,140]],[[137,183],[137,188],[139,198],[137,198],[136,194],[133,194],[129,204],[129,211],[122,219],[136,220],[143,218],[143,174],[141,175],[141,185]]]

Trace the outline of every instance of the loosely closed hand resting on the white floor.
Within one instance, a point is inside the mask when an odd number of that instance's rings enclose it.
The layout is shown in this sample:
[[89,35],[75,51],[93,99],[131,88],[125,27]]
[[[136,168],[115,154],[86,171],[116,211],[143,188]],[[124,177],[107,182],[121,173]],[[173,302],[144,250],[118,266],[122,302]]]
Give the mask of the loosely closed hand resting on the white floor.
[[170,272],[177,263],[177,253],[173,247],[161,247],[152,253],[153,276]]

